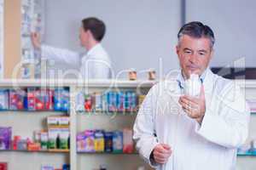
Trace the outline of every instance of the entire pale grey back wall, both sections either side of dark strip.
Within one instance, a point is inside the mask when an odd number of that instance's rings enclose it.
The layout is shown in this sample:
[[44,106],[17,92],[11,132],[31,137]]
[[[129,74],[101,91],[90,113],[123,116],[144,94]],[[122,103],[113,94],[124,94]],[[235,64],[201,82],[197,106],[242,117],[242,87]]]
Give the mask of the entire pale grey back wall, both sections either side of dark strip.
[[[96,16],[108,26],[104,47],[113,60],[115,71],[126,68],[159,71],[159,58],[165,72],[178,68],[176,35],[181,26],[179,0],[46,0],[47,43],[61,48],[79,48],[80,20]],[[201,20],[216,36],[212,66],[233,65],[246,58],[255,66],[253,33],[256,15],[253,0],[186,0],[186,21]],[[67,65],[61,65],[66,68]]]

